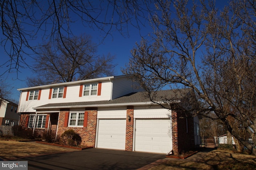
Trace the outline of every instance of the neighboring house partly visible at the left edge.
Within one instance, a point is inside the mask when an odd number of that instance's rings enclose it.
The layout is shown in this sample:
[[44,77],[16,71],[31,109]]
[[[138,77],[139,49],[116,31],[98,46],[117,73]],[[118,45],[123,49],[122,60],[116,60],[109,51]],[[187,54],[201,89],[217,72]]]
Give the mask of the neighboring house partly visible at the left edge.
[[20,115],[17,113],[17,109],[17,104],[7,99],[0,99],[0,125],[18,125]]

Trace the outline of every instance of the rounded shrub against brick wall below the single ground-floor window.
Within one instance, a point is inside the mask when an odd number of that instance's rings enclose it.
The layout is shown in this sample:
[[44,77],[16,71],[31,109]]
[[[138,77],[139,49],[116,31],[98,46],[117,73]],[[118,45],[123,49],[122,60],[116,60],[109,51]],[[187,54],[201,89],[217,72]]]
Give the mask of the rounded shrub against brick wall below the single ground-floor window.
[[82,138],[73,129],[66,130],[60,136],[62,144],[67,146],[78,146],[82,142]]

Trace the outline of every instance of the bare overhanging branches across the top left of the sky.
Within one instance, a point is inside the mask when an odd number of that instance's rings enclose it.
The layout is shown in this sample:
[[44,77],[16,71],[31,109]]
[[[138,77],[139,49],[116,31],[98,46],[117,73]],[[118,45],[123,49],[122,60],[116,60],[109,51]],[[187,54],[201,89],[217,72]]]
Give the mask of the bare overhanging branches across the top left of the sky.
[[127,0],[2,0],[0,1],[1,45],[10,57],[6,72],[30,67],[26,57],[36,53],[35,41],[54,42],[76,36],[75,28],[96,30],[102,40],[112,32],[129,36],[128,24],[143,27],[144,2]]

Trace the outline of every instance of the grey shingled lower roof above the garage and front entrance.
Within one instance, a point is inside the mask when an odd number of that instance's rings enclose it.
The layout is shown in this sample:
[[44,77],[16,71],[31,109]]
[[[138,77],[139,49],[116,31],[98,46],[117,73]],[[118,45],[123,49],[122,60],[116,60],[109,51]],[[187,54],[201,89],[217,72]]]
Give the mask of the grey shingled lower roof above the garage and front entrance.
[[[184,95],[190,93],[190,89],[175,89],[175,90],[162,90],[152,93],[153,101],[170,101],[181,100]],[[33,109],[51,109],[51,108],[74,108],[74,107],[104,107],[104,106],[117,106],[117,105],[141,105],[152,104],[152,101],[147,96],[146,92],[129,93],[122,97],[110,101],[86,101],[86,102],[70,102],[70,103],[49,103]]]

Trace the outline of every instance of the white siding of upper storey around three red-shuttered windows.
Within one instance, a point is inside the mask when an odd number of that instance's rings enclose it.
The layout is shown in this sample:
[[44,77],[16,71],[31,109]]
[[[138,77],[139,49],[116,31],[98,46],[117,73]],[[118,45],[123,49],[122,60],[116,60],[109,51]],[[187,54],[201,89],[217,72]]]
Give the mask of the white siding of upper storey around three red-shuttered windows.
[[[20,106],[18,108],[19,113],[24,112],[30,112],[34,113],[35,110],[32,109],[34,107],[51,104],[51,103],[72,103],[72,102],[86,102],[86,101],[107,101],[112,99],[112,92],[114,93],[115,97],[120,97],[121,95],[126,95],[127,93],[134,92],[134,89],[132,89],[132,84],[126,81],[124,78],[117,78],[112,80],[104,80],[101,81],[100,79],[96,79],[97,81],[92,81],[88,84],[98,84],[102,83],[101,85],[101,95],[89,95],[87,97],[79,97],[79,91],[80,91],[80,85],[87,83],[84,83],[83,81],[77,81],[77,84],[68,84],[68,83],[60,83],[60,86],[56,87],[45,87],[41,86],[37,89],[42,89],[40,100],[30,100],[26,101],[27,91],[34,91],[34,89],[28,89],[28,90],[22,90],[22,94],[20,97]],[[122,81],[125,80],[125,81]],[[70,82],[73,83],[73,82]],[[114,87],[112,87],[112,83],[114,84]],[[115,84],[116,83],[116,84]],[[63,85],[64,84],[64,85]],[[50,94],[50,88],[52,88],[52,92],[54,88],[58,87],[67,87],[66,91],[66,98],[54,98],[54,100],[49,100],[49,94]],[[84,90],[84,88],[82,89]],[[135,90],[138,91],[138,90]],[[98,89],[97,89],[98,93]],[[82,96],[84,92],[82,91]],[[94,92],[95,94],[95,92]],[[118,96],[119,95],[119,96]],[[51,94],[52,99],[52,94]]]

